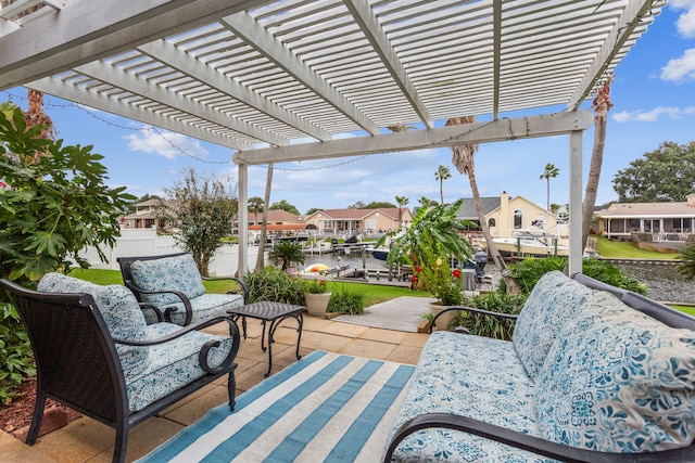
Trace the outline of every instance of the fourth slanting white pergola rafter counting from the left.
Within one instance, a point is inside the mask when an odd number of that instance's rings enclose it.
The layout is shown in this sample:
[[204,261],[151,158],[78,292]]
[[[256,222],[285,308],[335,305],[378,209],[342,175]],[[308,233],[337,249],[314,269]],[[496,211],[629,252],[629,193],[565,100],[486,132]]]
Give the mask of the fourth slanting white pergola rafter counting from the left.
[[371,134],[379,133],[379,127],[377,127],[375,123],[326,80],[321,79],[320,76],[304,62],[298,60],[279,40],[261,27],[250,14],[242,12],[226,16],[222,20],[222,23],[236,36],[244,40],[247,44],[253,47],[258,53],[273,61],[292,76],[293,79],[323,98],[357,126]]

